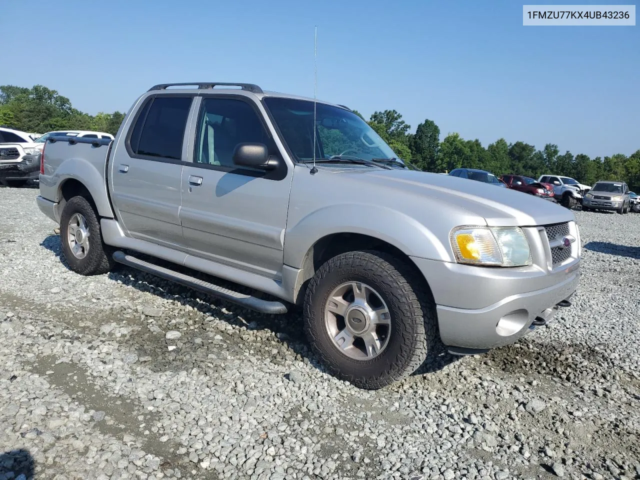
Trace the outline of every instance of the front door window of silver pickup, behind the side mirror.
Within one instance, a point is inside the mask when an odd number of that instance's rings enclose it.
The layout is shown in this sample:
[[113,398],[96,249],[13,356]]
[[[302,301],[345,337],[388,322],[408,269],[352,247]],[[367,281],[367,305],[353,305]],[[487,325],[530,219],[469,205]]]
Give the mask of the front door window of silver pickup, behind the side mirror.
[[250,104],[236,99],[205,99],[198,121],[196,163],[234,166],[236,145],[244,142],[264,143],[271,154],[275,153],[275,145]]

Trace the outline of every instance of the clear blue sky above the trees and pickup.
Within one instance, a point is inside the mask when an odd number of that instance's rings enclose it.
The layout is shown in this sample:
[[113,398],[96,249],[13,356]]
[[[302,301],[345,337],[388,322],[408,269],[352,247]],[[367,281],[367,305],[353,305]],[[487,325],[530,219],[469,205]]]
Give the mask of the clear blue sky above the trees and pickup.
[[485,146],[640,148],[640,26],[524,27],[515,1],[4,0],[0,84],[92,114],[171,81],[312,96],[314,25],[318,98],[366,118],[396,109],[412,131],[429,118]]

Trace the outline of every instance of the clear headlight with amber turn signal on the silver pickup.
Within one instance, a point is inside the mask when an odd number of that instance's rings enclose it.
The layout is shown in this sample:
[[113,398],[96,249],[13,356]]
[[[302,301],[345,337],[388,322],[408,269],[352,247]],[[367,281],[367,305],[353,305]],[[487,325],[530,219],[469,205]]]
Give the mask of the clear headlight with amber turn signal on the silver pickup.
[[458,263],[519,267],[531,265],[531,249],[519,227],[458,227],[451,232]]

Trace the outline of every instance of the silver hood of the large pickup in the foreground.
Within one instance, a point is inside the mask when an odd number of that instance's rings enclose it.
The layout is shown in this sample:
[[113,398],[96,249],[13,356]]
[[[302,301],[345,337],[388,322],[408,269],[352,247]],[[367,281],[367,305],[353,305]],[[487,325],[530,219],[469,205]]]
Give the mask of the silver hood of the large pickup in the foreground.
[[363,172],[358,175],[360,181],[371,184],[372,191],[382,193],[385,189],[394,189],[415,196],[415,202],[429,199],[431,202],[425,202],[429,208],[438,203],[458,207],[481,216],[487,225],[495,227],[528,227],[575,220],[572,211],[548,200],[476,180],[406,170],[359,172]]

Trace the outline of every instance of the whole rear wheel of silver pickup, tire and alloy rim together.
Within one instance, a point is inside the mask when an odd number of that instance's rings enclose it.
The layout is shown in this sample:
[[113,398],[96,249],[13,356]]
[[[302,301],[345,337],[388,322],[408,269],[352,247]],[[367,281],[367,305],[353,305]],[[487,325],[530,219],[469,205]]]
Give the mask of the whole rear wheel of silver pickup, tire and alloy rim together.
[[74,196],[60,215],[60,242],[69,268],[81,275],[100,275],[113,268],[111,249],[102,241],[100,222],[84,196]]

